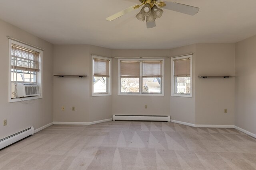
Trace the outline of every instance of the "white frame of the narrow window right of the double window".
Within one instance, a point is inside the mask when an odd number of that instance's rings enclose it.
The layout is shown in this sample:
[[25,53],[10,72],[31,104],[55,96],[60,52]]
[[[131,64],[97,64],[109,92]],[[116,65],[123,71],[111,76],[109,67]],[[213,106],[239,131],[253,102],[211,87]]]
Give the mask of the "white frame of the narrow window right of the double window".
[[[188,98],[192,98],[192,55],[186,55],[186,56],[182,56],[182,57],[173,57],[171,58],[171,84],[172,84],[172,88],[171,88],[171,96],[177,96],[177,97],[188,97]],[[190,58],[190,94],[176,94],[175,93],[175,78],[174,78],[174,60],[179,60],[179,59],[187,59]]]

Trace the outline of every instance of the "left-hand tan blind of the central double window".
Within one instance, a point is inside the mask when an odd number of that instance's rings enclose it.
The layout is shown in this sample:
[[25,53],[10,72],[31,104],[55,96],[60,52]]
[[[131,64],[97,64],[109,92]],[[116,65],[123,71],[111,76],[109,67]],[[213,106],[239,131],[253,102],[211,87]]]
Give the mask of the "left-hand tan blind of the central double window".
[[140,77],[140,62],[139,61],[120,61],[120,76],[121,77]]

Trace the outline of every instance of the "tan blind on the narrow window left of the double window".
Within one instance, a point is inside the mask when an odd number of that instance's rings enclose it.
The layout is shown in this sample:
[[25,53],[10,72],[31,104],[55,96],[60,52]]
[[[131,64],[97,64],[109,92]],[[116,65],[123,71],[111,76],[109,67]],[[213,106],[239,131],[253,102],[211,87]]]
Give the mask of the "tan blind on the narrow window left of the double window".
[[94,58],[95,77],[109,77],[109,60]]

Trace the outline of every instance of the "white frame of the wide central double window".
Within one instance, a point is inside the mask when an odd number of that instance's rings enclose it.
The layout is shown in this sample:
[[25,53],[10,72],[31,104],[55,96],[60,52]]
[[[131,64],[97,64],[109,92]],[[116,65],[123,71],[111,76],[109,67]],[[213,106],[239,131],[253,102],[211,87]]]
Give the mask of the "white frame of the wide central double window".
[[[142,62],[140,62],[140,93],[121,93],[120,61],[162,61],[161,93],[142,93]],[[164,59],[118,59],[118,96],[164,96]]]

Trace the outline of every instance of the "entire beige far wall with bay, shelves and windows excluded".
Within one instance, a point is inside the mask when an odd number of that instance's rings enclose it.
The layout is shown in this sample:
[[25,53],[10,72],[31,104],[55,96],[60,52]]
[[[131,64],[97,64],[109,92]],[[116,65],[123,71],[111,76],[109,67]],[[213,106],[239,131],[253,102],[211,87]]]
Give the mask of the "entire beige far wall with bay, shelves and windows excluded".
[[[165,59],[164,96],[118,96],[118,59],[113,58],[112,96],[92,97],[91,54],[129,58],[187,53],[194,53],[192,98],[170,96],[169,58]],[[195,44],[171,50],[111,50],[92,45],[55,45],[54,74],[88,75],[86,78],[54,78],[54,121],[92,122],[109,119],[112,114],[135,114],[171,115],[173,120],[192,124],[234,124],[234,78],[197,77],[199,74],[234,75],[234,44]],[[144,108],[145,105],[148,109]],[[72,106],[76,111],[72,111]],[[228,109],[226,114],[225,108]]]

